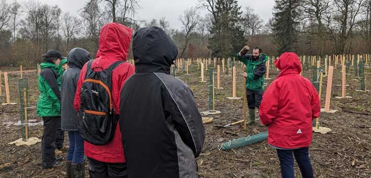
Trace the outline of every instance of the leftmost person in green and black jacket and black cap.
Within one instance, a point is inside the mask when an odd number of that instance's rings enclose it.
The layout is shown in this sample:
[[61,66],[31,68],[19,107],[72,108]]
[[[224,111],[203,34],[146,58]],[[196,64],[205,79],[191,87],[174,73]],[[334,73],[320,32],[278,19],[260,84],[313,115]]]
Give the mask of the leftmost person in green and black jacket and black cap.
[[60,91],[57,79],[59,78],[59,64],[63,57],[57,50],[49,50],[43,55],[44,62],[40,65],[39,91],[37,114],[43,117],[44,131],[41,139],[42,166],[53,168],[62,165],[55,157],[55,140],[58,126],[60,127]]

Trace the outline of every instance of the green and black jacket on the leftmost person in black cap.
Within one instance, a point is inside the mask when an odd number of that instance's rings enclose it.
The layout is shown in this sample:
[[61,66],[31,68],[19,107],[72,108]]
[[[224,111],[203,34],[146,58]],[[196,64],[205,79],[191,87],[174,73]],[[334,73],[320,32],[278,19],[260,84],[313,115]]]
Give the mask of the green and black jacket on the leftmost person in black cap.
[[37,115],[39,117],[60,116],[60,90],[57,82],[60,67],[43,62],[40,69]]

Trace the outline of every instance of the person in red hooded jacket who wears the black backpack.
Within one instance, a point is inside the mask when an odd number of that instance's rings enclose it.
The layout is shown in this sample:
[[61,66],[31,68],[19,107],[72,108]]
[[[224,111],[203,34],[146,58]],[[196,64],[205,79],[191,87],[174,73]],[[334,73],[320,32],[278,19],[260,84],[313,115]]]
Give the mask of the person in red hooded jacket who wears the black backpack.
[[[101,29],[99,49],[91,68],[107,69],[114,62],[127,61],[133,30],[119,23],[107,23]],[[82,67],[77,81],[74,107],[80,108],[81,85],[86,75],[87,63]],[[130,63],[122,63],[112,71],[111,94],[113,112],[119,114],[120,90],[123,83],[135,72]],[[121,143],[120,128],[117,123],[113,139],[105,145],[94,145],[84,141],[84,152],[89,161],[90,177],[127,177],[126,161]]]

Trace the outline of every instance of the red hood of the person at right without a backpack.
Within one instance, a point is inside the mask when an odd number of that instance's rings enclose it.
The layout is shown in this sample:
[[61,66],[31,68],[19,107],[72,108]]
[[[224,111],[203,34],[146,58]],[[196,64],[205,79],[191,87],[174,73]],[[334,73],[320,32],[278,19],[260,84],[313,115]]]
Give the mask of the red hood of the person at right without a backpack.
[[279,75],[300,74],[301,63],[299,56],[294,52],[285,52],[274,62],[275,67],[281,70]]

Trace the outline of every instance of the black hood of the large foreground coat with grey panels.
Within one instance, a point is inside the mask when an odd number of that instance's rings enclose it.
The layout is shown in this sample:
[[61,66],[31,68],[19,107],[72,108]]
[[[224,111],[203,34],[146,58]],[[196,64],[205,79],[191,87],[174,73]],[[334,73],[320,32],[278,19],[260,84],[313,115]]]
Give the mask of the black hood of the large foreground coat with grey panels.
[[163,29],[155,26],[140,28],[133,37],[135,72],[170,74],[170,66],[178,48]]

